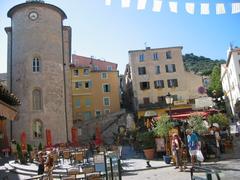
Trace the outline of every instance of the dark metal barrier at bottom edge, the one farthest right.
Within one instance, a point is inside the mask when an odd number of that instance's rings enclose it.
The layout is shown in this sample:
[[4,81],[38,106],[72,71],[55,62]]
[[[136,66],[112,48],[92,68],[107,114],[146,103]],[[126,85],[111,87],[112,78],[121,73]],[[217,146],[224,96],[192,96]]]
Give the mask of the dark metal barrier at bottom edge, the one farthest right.
[[[196,176],[196,175],[193,175],[194,172],[196,172],[195,170],[199,170],[200,172],[203,172],[205,173],[206,177],[201,177],[201,176]],[[199,172],[197,171],[197,172]],[[199,166],[194,166],[191,168],[191,180],[212,180],[212,175],[215,175],[217,180],[220,180],[220,176],[219,176],[219,173],[221,171],[218,171],[218,170],[214,170],[214,169],[209,169],[209,168],[204,168],[204,167],[199,167]]]

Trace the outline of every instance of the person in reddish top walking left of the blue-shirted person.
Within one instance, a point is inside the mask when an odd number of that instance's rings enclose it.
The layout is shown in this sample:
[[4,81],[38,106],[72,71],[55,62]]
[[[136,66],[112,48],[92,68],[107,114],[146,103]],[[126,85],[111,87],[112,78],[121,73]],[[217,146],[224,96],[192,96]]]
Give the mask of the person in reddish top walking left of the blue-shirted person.
[[175,168],[180,167],[180,171],[182,171],[183,169],[182,169],[181,138],[176,133],[174,133],[172,136],[171,148],[172,148],[172,155],[175,157],[175,160],[176,160]]

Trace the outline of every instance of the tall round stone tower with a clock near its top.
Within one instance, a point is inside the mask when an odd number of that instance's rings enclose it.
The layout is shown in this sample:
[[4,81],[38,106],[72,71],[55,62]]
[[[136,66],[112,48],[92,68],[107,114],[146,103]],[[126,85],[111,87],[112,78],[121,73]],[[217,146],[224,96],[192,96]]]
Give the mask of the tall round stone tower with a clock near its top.
[[[27,143],[67,142],[72,127],[71,28],[66,14],[41,0],[26,1],[8,11],[8,75],[10,90],[21,100],[11,136]],[[47,132],[47,133],[46,133]],[[48,135],[46,135],[48,134]],[[49,145],[49,144],[48,144]]]

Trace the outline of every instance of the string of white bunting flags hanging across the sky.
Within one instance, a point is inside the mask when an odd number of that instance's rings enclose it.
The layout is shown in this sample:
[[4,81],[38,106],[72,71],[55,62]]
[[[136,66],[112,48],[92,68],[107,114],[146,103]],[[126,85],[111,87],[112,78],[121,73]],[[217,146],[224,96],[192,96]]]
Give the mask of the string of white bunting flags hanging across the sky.
[[[137,0],[137,10],[144,10],[146,8],[148,0]],[[164,0],[152,0],[152,11],[160,12],[162,9],[162,4]],[[112,0],[105,0],[106,6],[111,6]],[[169,11],[172,13],[178,13],[178,2],[168,1]],[[129,8],[131,6],[131,0],[121,0],[122,8]],[[188,14],[195,14],[196,4],[194,2],[185,2],[185,11]],[[215,13],[217,15],[226,14],[226,5],[224,3],[215,4]],[[240,13],[240,2],[231,3],[231,13]],[[210,14],[210,3],[200,3],[200,14],[209,15]]]

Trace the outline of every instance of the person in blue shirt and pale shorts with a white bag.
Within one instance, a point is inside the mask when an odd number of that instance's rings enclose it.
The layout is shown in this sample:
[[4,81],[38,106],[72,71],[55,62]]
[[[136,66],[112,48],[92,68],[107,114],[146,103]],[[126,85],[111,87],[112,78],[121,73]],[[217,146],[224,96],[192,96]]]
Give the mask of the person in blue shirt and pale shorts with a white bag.
[[187,134],[187,141],[188,141],[188,150],[189,150],[189,154],[191,156],[191,163],[192,163],[192,167],[193,167],[196,162],[196,159],[197,159],[196,155],[197,155],[197,150],[198,150],[198,137],[192,131],[192,129],[187,129],[186,134]]

